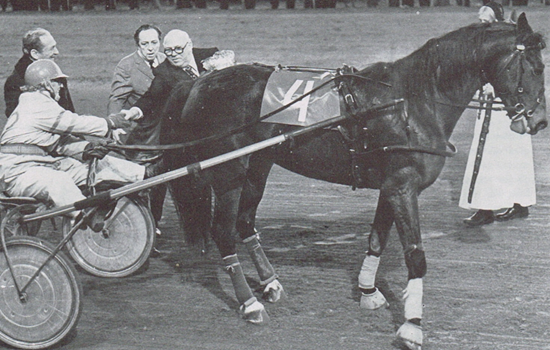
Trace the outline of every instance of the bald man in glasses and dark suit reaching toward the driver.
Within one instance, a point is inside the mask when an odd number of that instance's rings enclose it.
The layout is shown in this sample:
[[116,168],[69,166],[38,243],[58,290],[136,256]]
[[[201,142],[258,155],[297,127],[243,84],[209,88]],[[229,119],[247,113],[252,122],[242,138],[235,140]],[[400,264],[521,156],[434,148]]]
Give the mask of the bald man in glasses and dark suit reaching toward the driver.
[[[137,120],[137,127],[132,130],[126,144],[158,145],[160,135],[160,118],[170,92],[182,82],[190,88],[193,81],[205,71],[202,61],[214,55],[218,49],[198,49],[193,47],[189,35],[183,30],[171,30],[163,41],[166,60],[153,70],[155,78],[149,90],[137,100],[130,110],[122,110],[128,119]],[[183,105],[181,106],[183,107]],[[180,110],[181,112],[181,110]],[[138,160],[150,158],[151,153],[129,154]],[[209,189],[201,189],[203,202],[199,206],[209,208]],[[151,191],[151,212],[158,223],[162,217],[162,207],[166,195],[166,186],[157,186]],[[207,210],[207,209],[205,209]],[[158,231],[157,231],[158,232]]]

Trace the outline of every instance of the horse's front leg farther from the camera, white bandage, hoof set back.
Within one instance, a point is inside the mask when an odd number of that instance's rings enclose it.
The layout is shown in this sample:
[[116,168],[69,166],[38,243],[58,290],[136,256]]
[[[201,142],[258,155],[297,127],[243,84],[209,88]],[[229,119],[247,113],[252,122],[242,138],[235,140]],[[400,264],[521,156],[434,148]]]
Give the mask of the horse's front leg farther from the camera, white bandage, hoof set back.
[[381,194],[369,236],[369,249],[359,273],[361,308],[375,310],[382,306],[389,306],[384,295],[375,287],[375,278],[380,264],[380,255],[388,243],[392,225],[393,210]]

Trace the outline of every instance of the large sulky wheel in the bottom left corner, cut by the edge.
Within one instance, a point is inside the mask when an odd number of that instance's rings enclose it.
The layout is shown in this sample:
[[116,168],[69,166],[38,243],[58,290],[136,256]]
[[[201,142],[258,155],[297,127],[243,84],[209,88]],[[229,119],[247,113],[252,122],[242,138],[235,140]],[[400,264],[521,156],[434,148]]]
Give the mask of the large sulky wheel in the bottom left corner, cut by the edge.
[[[22,288],[54,248],[35,237],[6,239],[13,276]],[[0,340],[20,349],[46,349],[75,329],[82,287],[70,260],[58,252],[20,296],[0,253]]]

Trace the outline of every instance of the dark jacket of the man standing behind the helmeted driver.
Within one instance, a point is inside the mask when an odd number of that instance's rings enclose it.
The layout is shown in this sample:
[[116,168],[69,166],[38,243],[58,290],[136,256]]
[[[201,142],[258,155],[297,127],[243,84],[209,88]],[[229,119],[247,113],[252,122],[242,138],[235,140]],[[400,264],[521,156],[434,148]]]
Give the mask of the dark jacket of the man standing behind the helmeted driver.
[[[23,55],[19,61],[15,64],[15,69],[6,80],[4,84],[4,101],[6,102],[6,117],[9,118],[17,104],[19,103],[19,95],[21,95],[21,87],[25,85],[25,71],[27,67],[32,63],[29,55]],[[73,101],[71,100],[71,94],[69,93],[69,87],[67,80],[64,79],[63,88],[59,92],[60,99],[59,105],[66,110],[74,112]]]

